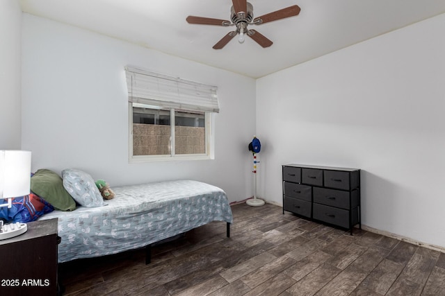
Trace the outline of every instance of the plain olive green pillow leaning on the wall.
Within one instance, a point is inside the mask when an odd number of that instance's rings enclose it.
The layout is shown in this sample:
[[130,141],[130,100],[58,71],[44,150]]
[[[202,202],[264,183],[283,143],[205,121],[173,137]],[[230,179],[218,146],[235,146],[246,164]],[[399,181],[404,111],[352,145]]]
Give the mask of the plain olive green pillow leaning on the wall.
[[31,177],[31,191],[60,211],[73,211],[76,202],[63,188],[62,178],[47,169],[40,169]]

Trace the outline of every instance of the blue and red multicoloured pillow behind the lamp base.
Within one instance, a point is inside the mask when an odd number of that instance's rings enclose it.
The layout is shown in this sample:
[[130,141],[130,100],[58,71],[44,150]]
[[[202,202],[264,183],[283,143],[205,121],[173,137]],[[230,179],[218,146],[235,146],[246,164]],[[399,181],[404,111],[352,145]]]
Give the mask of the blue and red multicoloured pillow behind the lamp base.
[[[3,203],[8,203],[4,200]],[[0,218],[10,222],[28,223],[37,220],[43,214],[54,211],[54,207],[40,196],[33,193],[13,199],[13,207],[0,208]]]

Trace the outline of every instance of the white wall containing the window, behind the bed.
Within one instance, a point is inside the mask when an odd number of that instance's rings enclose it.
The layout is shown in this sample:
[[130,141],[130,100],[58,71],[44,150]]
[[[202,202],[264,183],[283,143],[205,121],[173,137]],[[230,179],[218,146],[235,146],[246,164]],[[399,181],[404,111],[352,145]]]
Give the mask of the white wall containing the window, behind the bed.
[[[33,170],[80,168],[112,187],[186,178],[220,186],[230,201],[252,196],[255,80],[26,14],[22,34],[23,147]],[[128,64],[218,86],[216,159],[129,164]]]

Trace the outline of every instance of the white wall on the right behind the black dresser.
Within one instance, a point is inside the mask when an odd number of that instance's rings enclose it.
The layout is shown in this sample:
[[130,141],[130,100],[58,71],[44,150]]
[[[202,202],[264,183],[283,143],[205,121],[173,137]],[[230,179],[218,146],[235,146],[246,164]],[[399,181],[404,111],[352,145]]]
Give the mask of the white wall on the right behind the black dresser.
[[445,247],[445,15],[257,80],[259,197],[282,164],[362,169],[362,222]]

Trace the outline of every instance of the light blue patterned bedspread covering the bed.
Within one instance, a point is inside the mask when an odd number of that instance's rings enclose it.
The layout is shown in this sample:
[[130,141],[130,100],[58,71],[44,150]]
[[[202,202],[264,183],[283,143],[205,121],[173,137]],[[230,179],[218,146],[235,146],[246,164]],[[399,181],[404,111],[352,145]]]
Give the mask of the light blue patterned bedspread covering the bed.
[[115,187],[103,207],[53,211],[58,218],[58,261],[116,254],[145,247],[210,223],[233,222],[226,193],[216,186],[178,180]]

